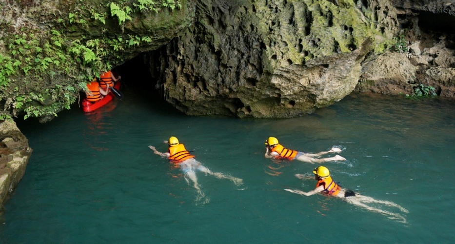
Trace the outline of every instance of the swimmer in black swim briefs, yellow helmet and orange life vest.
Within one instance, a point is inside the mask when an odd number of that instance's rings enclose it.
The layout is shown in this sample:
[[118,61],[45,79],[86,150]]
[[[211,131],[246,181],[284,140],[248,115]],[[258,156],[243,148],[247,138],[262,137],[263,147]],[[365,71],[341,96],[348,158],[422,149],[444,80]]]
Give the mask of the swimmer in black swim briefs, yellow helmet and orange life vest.
[[[332,180],[332,177],[330,177],[329,169],[324,166],[319,166],[319,167],[315,168],[313,173],[315,173],[315,177],[317,180],[316,188],[314,190],[309,191],[309,192],[304,192],[304,191],[300,191],[300,190],[291,190],[291,189],[284,189],[284,190],[292,192],[292,193],[297,193],[300,195],[305,195],[305,196],[311,196],[311,195],[314,195],[317,193],[322,193],[324,195],[329,195],[329,196],[336,196],[336,197],[346,200],[348,203],[352,203],[356,206],[363,207],[367,210],[386,215],[386,216],[388,216],[389,219],[393,219],[393,220],[397,220],[402,223],[406,223],[406,219],[403,216],[401,216],[400,214],[386,211],[386,210],[383,210],[383,209],[380,209],[377,207],[373,207],[373,206],[367,205],[367,203],[384,204],[385,206],[396,207],[404,213],[409,213],[409,211],[407,209],[403,208],[402,206],[400,206],[396,203],[389,202],[389,201],[376,200],[371,197],[362,196],[359,193],[356,193],[352,190],[346,190],[344,188],[341,188],[337,183],[335,183]],[[305,176],[301,175],[301,174],[296,174],[296,177],[299,179],[305,178]]]

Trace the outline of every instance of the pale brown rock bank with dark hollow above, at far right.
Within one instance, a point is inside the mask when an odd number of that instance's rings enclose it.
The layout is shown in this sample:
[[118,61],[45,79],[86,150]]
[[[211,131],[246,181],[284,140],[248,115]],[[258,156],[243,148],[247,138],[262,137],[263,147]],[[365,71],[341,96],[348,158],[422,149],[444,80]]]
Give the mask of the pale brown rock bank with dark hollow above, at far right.
[[356,91],[412,94],[433,86],[441,97],[455,97],[455,1],[395,0],[400,52],[388,51],[362,62]]

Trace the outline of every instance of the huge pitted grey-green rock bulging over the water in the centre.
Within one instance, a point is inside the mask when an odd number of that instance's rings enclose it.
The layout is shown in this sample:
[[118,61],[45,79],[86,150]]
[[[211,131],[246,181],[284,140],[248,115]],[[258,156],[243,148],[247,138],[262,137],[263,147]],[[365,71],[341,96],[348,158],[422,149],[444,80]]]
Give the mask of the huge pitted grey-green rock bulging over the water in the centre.
[[398,31],[379,0],[199,0],[196,8],[194,25],[160,50],[158,68],[161,95],[189,115],[286,118],[331,105],[354,90],[365,55],[382,53]]

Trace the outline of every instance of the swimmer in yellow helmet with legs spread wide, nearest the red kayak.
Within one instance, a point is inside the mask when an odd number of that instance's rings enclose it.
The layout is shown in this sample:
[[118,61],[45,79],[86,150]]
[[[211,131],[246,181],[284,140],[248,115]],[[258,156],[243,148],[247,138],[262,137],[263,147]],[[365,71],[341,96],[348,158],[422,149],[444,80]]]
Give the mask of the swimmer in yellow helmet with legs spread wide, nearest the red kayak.
[[161,157],[168,158],[169,162],[179,165],[180,169],[183,171],[185,175],[185,180],[188,183],[189,183],[188,179],[190,179],[193,182],[194,187],[198,191],[198,194],[201,198],[204,197],[204,194],[200,190],[198,178],[196,177],[195,172],[196,170],[199,170],[206,174],[213,175],[219,179],[231,180],[236,185],[242,184],[243,182],[242,179],[210,171],[210,169],[208,169],[207,167],[199,163],[197,160],[195,160],[194,159],[195,156],[191,155],[190,152],[188,152],[185,149],[185,146],[178,142],[178,139],[176,137],[170,137],[169,141],[164,141],[164,143],[169,144],[169,149],[168,152],[166,153],[158,152],[158,150],[154,146],[149,146],[149,148],[152,149],[155,154],[158,154]]

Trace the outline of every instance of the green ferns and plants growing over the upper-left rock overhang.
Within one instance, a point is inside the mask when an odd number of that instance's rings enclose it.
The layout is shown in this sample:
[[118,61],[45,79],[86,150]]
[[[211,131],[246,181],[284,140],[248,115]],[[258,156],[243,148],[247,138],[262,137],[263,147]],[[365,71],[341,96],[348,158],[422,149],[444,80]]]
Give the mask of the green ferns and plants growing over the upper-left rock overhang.
[[71,32],[89,27],[94,20],[106,24],[110,16],[122,27],[132,20],[133,13],[181,8],[180,0],[121,0],[100,8],[88,6],[83,0],[76,4],[68,16],[56,18],[55,24],[62,28],[42,33],[24,27],[21,34],[2,36],[5,51],[0,54],[0,120],[16,117],[22,111],[24,119],[57,116],[62,108],[70,108],[79,91],[88,91],[88,81],[111,69],[111,63],[119,63],[122,51],[153,41],[152,37],[138,35],[74,39]]

